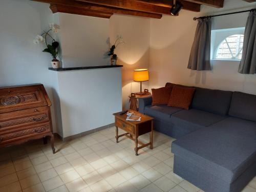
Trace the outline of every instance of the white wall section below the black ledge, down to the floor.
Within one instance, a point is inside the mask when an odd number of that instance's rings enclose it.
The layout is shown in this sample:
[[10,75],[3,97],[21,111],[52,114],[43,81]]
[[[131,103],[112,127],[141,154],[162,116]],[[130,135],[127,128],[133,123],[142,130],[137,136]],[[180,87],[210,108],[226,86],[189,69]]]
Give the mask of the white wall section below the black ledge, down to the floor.
[[63,138],[114,123],[122,110],[121,68],[56,73]]

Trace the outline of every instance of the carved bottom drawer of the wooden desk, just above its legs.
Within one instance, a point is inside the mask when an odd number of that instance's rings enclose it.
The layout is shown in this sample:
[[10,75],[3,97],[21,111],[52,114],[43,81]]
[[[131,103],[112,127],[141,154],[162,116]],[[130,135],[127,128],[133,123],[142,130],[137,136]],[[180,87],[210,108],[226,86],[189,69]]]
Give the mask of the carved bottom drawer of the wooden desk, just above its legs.
[[50,123],[31,125],[0,133],[0,144],[51,132]]

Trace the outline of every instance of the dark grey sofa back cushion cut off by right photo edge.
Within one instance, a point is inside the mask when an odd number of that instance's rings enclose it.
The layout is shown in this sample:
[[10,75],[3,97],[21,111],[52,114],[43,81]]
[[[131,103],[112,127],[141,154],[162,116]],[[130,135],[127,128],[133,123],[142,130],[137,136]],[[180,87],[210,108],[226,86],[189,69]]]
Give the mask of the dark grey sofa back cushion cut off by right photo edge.
[[233,92],[228,114],[233,117],[256,121],[256,95]]

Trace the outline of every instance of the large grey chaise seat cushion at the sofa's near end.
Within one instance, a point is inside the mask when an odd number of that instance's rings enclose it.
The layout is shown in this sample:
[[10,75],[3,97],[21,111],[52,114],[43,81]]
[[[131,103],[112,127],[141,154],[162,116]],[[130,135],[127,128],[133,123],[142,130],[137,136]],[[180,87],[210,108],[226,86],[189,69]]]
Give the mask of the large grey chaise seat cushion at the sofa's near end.
[[174,141],[172,152],[232,183],[256,162],[256,122],[228,117]]

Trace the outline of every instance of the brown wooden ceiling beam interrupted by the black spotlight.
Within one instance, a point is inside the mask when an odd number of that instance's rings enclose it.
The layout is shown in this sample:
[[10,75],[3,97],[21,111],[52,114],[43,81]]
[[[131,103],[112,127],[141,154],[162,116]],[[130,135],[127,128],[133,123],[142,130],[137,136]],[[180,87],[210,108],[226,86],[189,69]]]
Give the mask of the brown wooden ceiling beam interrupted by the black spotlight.
[[[98,4],[103,6],[110,6],[110,7],[116,7],[116,8],[122,8],[122,9],[130,9],[130,10],[136,10],[136,11],[144,11],[144,12],[150,12],[150,13],[160,13],[160,14],[169,14],[169,7],[159,6],[159,5],[153,5],[150,3],[142,3],[134,0],[75,0],[79,2],[87,2],[92,4]],[[200,5],[194,4],[190,2],[184,2],[183,8],[189,11],[200,11]]]

